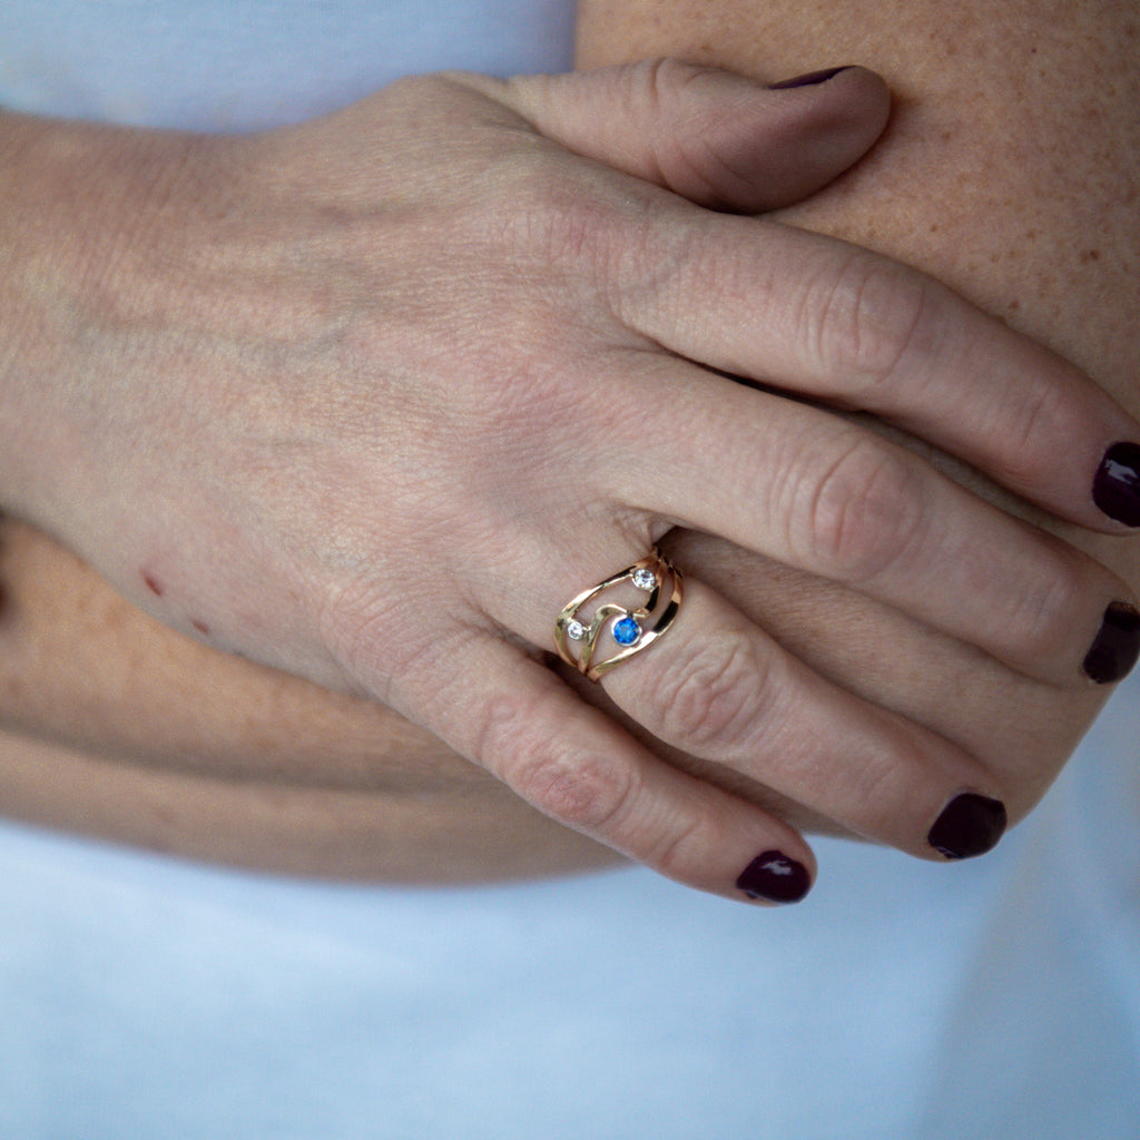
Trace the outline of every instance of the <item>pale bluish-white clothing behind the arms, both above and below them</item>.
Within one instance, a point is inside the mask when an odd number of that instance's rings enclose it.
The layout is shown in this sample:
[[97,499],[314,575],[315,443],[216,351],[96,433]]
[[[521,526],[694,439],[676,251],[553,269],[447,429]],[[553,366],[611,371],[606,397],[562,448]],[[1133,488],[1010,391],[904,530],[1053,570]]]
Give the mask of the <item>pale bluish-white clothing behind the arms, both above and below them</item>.
[[[6,0],[0,104],[259,127],[404,72],[565,66],[570,18]],[[0,1137],[1135,1140],[1138,740],[1140,679],[994,854],[819,842],[781,912],[643,871],[341,888],[0,825]]]

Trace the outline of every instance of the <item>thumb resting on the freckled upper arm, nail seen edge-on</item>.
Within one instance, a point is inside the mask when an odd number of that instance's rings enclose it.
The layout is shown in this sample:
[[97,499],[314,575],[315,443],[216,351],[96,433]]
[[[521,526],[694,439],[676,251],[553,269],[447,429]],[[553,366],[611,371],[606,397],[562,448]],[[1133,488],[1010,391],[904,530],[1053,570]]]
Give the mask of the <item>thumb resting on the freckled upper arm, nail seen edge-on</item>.
[[699,205],[789,205],[857,162],[890,95],[862,67],[787,85],[675,59],[511,80],[499,98],[542,135]]

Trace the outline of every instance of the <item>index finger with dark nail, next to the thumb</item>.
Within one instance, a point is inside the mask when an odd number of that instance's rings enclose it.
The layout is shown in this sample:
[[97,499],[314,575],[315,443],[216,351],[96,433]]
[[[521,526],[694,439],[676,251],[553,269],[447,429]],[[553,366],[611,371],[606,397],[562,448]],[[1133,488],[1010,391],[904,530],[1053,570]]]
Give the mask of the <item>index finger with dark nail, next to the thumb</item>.
[[1127,442],[1140,424],[1078,369],[937,282],[844,243],[707,214],[685,229],[624,294],[621,316],[642,334],[890,420],[1073,522],[1140,524],[1140,448]]

